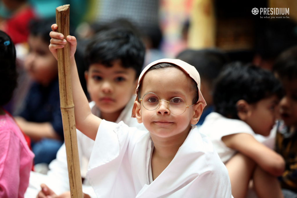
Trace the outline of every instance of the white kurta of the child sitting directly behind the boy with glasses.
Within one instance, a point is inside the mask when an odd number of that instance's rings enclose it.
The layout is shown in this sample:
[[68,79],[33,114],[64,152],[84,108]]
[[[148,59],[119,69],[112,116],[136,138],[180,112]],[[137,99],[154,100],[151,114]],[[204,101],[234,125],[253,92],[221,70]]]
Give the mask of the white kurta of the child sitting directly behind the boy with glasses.
[[[128,126],[134,126],[140,130],[146,130],[143,124],[138,123],[136,118],[131,118],[131,111],[133,107],[135,96],[131,98],[127,106],[121,112],[116,123],[124,121]],[[100,110],[95,106],[95,102],[89,103],[91,111],[94,115],[99,116]],[[83,158],[89,161],[91,152],[94,145],[94,140],[90,139],[84,135],[79,130],[77,132],[78,139],[78,154],[80,159],[81,172],[86,172],[83,170],[82,160]],[[56,194],[61,194],[65,191],[69,191],[69,177],[67,168],[67,158],[66,158],[66,148],[65,143],[59,149],[56,159],[49,164],[50,170],[47,175],[43,175],[37,172],[30,172],[29,187],[25,193],[25,198],[36,197],[38,192],[41,190],[40,184],[45,183],[50,189],[52,189]],[[84,181],[83,192],[89,194],[92,198],[96,197],[93,188],[88,184],[88,181]]]

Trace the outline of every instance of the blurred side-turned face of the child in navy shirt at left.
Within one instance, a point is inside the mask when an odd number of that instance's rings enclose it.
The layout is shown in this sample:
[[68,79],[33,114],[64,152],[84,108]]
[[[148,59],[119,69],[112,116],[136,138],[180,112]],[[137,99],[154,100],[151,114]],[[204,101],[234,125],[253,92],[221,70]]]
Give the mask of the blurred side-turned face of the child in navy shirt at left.
[[58,62],[41,37],[30,35],[28,44],[30,51],[24,67],[34,80],[46,86],[58,76]]

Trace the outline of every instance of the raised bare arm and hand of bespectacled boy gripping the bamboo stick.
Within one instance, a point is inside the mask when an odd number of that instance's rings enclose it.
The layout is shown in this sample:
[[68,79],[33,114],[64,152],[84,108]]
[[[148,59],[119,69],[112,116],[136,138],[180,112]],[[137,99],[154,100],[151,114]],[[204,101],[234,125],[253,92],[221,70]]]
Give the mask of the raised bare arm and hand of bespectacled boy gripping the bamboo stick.
[[51,26],[52,30],[50,32],[50,52],[53,53],[53,56],[57,58],[57,49],[63,48],[66,42],[69,42],[70,48],[70,69],[71,69],[71,83],[72,83],[72,95],[73,102],[75,105],[74,113],[75,113],[75,124],[76,128],[83,132],[89,138],[95,140],[97,130],[99,124],[102,119],[91,113],[91,109],[89,107],[89,102],[86,95],[83,92],[83,88],[80,85],[80,81],[78,78],[78,71],[74,59],[74,53],[76,50],[76,38],[73,36],[67,36],[64,39],[64,35],[56,32],[58,26],[57,24],[53,24]]

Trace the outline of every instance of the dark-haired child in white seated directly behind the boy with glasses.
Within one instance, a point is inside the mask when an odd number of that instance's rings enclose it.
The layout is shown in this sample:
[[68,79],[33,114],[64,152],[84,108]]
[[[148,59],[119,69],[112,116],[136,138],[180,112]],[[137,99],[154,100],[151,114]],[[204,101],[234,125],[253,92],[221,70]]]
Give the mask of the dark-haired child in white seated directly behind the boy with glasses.
[[[135,89],[145,55],[145,47],[140,38],[127,28],[101,31],[89,42],[85,53],[89,66],[85,77],[92,99],[89,103],[92,113],[107,121],[115,123],[124,121],[130,127],[146,130],[136,118],[131,118]],[[82,165],[83,158],[87,161],[90,159],[94,140],[79,130],[77,139],[80,165]],[[55,194],[70,190],[65,144],[59,149],[56,159],[50,163],[49,168],[47,177],[31,172],[26,197],[36,197],[41,183],[45,183]],[[81,172],[86,172],[84,167],[80,168]],[[43,190],[38,195],[39,197],[52,195],[51,191]],[[83,185],[83,192],[96,197],[90,185]]]

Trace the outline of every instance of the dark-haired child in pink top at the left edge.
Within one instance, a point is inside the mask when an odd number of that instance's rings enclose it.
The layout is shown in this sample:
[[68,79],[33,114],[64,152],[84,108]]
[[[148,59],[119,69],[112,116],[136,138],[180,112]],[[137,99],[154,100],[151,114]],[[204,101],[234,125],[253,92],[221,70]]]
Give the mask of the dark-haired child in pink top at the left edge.
[[9,102],[17,85],[15,46],[0,31],[0,197],[24,197],[34,154],[23,133],[2,106]]

